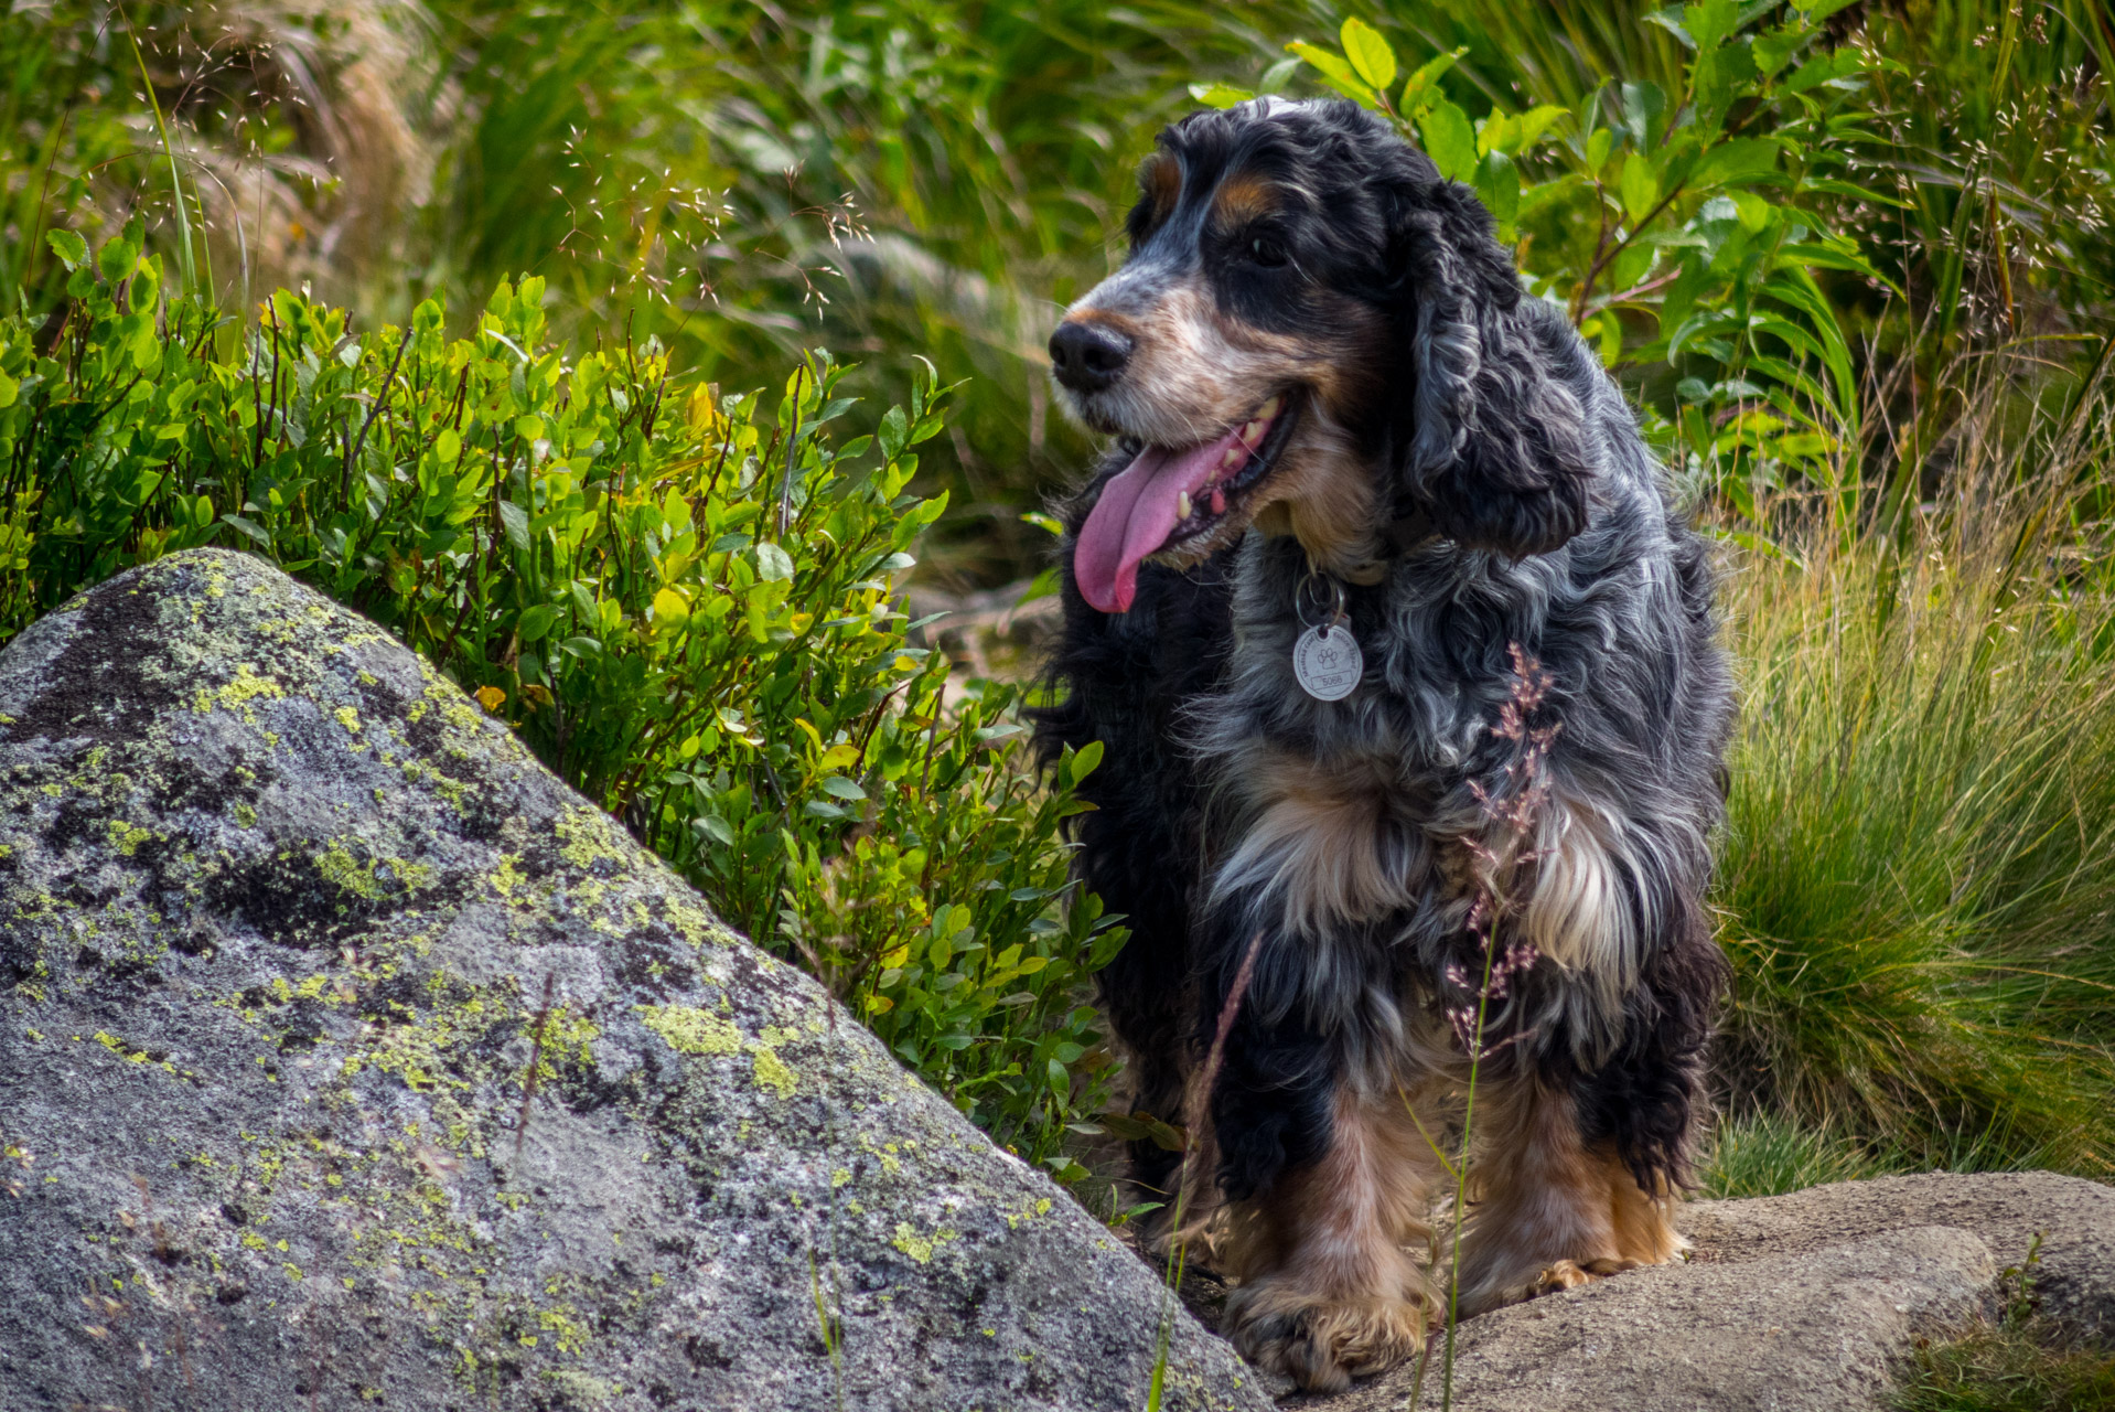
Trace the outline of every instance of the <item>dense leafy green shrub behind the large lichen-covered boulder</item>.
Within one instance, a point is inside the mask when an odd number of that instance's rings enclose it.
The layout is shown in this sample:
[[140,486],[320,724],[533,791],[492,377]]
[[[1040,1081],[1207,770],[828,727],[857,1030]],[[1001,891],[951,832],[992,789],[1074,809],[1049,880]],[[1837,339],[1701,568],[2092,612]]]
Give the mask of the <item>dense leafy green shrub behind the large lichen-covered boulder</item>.
[[1123,938],[1074,900],[1058,838],[1093,760],[1038,790],[1013,690],[954,690],[905,637],[893,576],[943,504],[905,491],[943,426],[928,370],[835,445],[827,354],[776,396],[721,396],[651,341],[552,347],[541,279],[459,341],[434,303],[351,334],[283,290],[239,334],[165,298],[137,227],[53,250],[63,328],[0,322],[0,637],[176,548],[275,559],[838,982],[994,1137],[1072,1173],[1058,1141],[1104,1063],[1081,978]]

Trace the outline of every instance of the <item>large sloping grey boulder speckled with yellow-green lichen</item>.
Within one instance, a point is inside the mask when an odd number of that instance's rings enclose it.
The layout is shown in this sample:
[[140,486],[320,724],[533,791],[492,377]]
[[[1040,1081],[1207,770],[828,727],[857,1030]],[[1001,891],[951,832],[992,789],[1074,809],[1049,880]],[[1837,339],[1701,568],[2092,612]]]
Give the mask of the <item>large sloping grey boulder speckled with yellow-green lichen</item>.
[[[1140,1408],[1155,1361],[1077,1205],[228,553],[0,654],[0,1143],[8,1410]],[[1163,1406],[1267,1399],[1176,1310]]]

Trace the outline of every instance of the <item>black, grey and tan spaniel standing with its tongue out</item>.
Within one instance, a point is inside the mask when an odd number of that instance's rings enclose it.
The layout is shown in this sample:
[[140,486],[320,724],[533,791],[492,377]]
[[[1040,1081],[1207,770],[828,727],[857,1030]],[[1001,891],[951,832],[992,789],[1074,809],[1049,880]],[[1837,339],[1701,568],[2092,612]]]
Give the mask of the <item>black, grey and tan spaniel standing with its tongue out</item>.
[[[1195,112],[1127,231],[1049,345],[1112,445],[1062,506],[1036,745],[1104,747],[1102,1010],[1203,1164],[1222,1327],[1332,1391],[1447,1279],[1481,1313],[1681,1251],[1726,984],[1713,567],[1474,191],[1371,112]],[[1182,1181],[1151,1141],[1132,1177]]]

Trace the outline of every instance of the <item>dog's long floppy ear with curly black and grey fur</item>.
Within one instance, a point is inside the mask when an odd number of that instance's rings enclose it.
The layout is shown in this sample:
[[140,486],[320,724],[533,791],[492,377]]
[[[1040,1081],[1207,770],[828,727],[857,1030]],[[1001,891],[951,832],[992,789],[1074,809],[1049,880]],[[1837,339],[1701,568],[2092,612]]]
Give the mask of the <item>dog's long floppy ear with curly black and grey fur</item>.
[[1586,527],[1593,483],[1586,413],[1559,368],[1576,337],[1521,292],[1468,186],[1402,188],[1394,224],[1402,489],[1459,544],[1548,553]]

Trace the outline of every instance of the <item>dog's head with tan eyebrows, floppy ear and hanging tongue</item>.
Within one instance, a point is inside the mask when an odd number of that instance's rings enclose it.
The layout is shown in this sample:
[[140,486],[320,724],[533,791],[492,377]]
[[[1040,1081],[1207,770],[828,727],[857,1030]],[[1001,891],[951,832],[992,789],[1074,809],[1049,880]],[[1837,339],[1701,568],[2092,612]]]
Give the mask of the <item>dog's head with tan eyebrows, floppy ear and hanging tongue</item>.
[[1421,512],[1508,555],[1586,523],[1569,332],[1529,318],[1476,195],[1356,104],[1197,112],[1140,169],[1132,254],[1051,334],[1079,421],[1129,464],[1074,576],[1132,605],[1144,559],[1195,563],[1250,525],[1322,567]]

